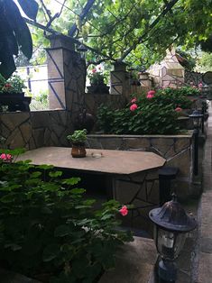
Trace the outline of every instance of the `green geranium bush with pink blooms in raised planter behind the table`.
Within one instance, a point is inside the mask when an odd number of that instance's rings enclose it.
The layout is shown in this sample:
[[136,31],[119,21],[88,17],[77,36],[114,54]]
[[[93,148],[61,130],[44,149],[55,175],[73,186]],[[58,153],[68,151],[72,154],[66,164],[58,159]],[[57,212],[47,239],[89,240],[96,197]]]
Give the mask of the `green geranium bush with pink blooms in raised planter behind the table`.
[[130,110],[132,103],[123,109],[100,105],[97,112],[100,130],[116,134],[177,133],[179,113],[175,109],[189,108],[192,102],[184,95],[183,90],[166,88],[158,90],[151,99],[144,94],[139,96],[135,104],[137,108],[134,111]]

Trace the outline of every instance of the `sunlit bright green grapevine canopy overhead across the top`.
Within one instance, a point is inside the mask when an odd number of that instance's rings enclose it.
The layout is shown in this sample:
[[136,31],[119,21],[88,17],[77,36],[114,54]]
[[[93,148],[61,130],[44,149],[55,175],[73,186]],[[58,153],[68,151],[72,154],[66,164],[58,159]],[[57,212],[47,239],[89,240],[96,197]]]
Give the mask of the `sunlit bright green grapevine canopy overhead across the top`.
[[[193,47],[212,33],[212,0],[40,2],[42,23],[51,22],[51,28],[57,32],[71,33],[75,39],[83,40],[93,49],[87,54],[90,63],[125,60],[148,66],[163,56],[171,44]],[[45,9],[52,2],[60,7],[60,16],[55,18]],[[80,17],[88,2],[92,2],[88,14]]]

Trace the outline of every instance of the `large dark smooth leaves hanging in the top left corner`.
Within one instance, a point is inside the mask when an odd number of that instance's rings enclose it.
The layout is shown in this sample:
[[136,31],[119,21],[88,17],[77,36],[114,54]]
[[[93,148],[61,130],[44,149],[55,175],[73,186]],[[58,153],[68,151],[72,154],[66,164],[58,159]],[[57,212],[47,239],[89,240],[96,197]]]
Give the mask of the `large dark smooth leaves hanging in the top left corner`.
[[[34,0],[18,0],[23,13],[35,20],[38,4]],[[19,8],[13,0],[0,1],[0,74],[9,78],[14,70],[14,56],[19,50],[30,59],[32,38]]]

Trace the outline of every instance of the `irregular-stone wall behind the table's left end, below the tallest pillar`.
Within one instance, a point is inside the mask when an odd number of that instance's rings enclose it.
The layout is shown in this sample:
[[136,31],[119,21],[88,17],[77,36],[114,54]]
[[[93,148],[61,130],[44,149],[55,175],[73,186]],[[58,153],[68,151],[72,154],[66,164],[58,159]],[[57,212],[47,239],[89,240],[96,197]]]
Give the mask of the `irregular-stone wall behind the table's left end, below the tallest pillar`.
[[68,146],[73,131],[68,111],[16,112],[0,114],[0,135],[9,149]]

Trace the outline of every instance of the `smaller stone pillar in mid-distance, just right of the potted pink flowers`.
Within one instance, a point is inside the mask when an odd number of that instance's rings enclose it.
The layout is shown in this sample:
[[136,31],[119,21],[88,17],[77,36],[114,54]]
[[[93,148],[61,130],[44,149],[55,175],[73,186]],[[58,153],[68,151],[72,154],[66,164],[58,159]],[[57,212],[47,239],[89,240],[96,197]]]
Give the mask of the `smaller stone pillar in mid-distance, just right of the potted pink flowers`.
[[126,64],[123,62],[115,63],[114,71],[110,72],[111,95],[130,95],[130,74],[126,71]]

